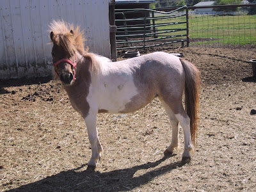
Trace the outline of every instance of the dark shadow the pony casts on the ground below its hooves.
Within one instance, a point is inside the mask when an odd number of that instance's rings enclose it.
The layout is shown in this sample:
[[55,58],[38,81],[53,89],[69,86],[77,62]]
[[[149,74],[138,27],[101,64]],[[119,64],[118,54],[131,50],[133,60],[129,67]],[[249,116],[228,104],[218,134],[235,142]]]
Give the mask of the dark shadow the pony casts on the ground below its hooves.
[[[156,162],[103,173],[88,170],[77,172],[86,166],[83,164],[74,170],[60,172],[31,184],[11,189],[10,191],[129,191],[138,186],[147,184],[147,182],[153,180],[155,177],[163,175],[166,172],[170,172],[171,170],[179,168],[185,164],[178,161],[176,163],[155,168],[167,158],[168,157],[164,156]],[[134,177],[134,173],[137,171],[147,170],[150,168],[155,169],[138,177]]]

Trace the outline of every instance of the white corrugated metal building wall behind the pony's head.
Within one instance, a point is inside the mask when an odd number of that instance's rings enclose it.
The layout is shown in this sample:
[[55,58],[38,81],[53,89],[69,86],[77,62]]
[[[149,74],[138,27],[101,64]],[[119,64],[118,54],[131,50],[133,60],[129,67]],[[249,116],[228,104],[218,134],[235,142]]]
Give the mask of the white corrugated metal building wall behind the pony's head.
[[84,29],[89,51],[110,58],[109,0],[1,0],[0,79],[51,74],[49,24]]

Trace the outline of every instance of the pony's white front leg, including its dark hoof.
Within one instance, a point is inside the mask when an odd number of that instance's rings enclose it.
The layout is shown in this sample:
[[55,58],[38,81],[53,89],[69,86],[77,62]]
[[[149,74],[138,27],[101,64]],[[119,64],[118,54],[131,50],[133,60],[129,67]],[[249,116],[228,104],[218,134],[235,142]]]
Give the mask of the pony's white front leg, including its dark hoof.
[[88,162],[88,168],[95,169],[97,161],[100,159],[100,152],[102,152],[102,146],[99,141],[98,131],[96,127],[97,113],[89,112],[89,115],[84,118],[88,138],[92,147],[92,157]]

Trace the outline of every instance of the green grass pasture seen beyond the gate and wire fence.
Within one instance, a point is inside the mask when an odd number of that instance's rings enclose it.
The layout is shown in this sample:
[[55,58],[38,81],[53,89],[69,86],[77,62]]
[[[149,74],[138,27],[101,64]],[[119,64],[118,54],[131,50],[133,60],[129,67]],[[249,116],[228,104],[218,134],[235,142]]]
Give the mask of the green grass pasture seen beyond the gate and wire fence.
[[[186,21],[186,17],[156,20],[156,24],[164,22]],[[160,26],[159,31],[166,29],[186,28],[186,24]],[[166,33],[164,35],[186,34],[186,31]],[[190,15],[189,38],[198,44],[255,44],[256,15]]]

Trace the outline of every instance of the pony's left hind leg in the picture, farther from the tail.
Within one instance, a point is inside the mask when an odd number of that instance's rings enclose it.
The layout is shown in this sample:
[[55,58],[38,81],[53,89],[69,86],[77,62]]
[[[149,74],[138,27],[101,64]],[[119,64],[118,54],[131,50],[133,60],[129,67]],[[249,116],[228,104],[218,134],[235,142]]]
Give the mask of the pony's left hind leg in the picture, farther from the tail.
[[170,124],[172,125],[172,143],[164,151],[164,155],[166,156],[168,154],[173,154],[173,150],[175,148],[179,150],[179,121],[175,117],[172,109],[168,106],[168,104],[166,104],[166,102],[163,100],[161,100],[161,102],[163,103],[164,109],[170,120]]

